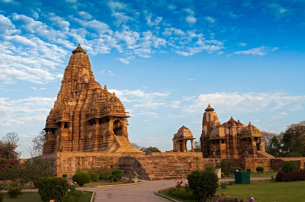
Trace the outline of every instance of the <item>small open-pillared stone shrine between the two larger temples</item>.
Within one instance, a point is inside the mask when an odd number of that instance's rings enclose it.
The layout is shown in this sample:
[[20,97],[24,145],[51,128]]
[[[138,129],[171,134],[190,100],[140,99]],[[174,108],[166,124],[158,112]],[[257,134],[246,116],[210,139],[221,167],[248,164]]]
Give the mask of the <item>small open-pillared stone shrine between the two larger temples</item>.
[[189,128],[186,126],[182,126],[178,129],[177,133],[174,134],[173,138],[173,145],[174,145],[174,152],[188,152],[187,142],[188,140],[191,141],[192,150],[194,152],[193,141],[196,138],[193,138],[193,133]]

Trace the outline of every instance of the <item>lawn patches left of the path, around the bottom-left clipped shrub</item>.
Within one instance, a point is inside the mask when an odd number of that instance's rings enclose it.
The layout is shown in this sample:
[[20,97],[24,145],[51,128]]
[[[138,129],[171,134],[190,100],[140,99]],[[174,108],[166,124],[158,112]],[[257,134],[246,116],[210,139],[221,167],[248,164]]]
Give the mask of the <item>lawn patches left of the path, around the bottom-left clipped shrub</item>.
[[[82,192],[81,197],[78,199],[78,202],[89,202],[93,192]],[[17,198],[9,198],[8,195],[5,195],[4,200],[6,202],[41,202],[40,195],[36,192],[22,192],[18,195]]]

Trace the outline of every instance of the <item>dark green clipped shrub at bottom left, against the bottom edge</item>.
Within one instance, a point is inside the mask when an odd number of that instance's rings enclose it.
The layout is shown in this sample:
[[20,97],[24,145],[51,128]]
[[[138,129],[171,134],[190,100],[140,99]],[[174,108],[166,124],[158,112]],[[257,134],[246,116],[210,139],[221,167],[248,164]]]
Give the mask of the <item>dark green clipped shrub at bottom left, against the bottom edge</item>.
[[50,200],[65,201],[69,189],[66,179],[57,177],[41,178],[37,185],[38,193],[43,202],[49,202]]

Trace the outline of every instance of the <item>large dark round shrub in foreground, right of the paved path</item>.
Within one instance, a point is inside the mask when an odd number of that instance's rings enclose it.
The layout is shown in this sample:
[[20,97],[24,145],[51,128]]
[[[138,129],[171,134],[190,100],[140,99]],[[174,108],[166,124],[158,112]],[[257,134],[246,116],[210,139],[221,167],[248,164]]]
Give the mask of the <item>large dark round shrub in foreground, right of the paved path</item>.
[[218,188],[217,175],[212,172],[193,171],[188,175],[188,181],[193,197],[198,201],[211,197]]

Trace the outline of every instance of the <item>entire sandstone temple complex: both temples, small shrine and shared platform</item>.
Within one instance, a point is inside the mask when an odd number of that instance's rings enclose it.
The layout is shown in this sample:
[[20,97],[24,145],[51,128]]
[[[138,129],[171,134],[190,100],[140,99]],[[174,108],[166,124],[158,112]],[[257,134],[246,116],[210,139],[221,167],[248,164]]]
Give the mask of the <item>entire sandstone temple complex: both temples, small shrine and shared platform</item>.
[[[72,51],[54,107],[46,119],[43,155],[62,176],[93,167],[120,169],[146,180],[185,179],[193,170],[232,159],[243,170],[263,166],[279,170],[285,158],[265,152],[263,137],[251,123],[231,119],[221,124],[210,105],[205,109],[201,152],[194,152],[193,133],[185,126],[173,138],[170,152],[144,153],[130,146],[128,112],[114,92],[95,81],[89,57],[80,45]],[[188,149],[187,141],[191,141]],[[305,158],[291,159],[303,169]]]

